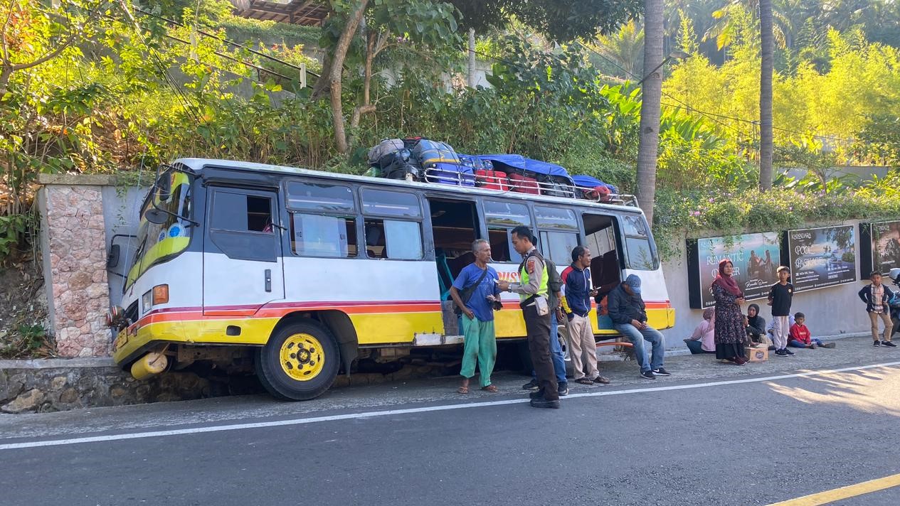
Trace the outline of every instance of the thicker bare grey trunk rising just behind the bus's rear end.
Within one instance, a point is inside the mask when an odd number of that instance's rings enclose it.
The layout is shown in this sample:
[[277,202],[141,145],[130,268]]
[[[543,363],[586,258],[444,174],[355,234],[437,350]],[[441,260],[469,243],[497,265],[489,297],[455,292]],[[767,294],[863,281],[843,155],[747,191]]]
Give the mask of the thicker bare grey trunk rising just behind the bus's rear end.
[[662,0],[644,0],[644,86],[641,91],[641,137],[637,149],[637,201],[651,225],[660,146],[662,39]]

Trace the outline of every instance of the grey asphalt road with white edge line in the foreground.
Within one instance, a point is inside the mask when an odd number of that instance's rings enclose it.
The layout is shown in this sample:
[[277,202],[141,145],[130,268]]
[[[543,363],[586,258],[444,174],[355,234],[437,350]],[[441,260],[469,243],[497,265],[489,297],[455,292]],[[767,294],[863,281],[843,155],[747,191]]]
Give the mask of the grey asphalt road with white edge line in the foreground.
[[[510,377],[507,394],[452,400],[3,417],[0,503],[768,504],[900,473],[900,354],[873,358],[572,388],[560,410],[529,407]],[[895,506],[900,487],[837,503]]]

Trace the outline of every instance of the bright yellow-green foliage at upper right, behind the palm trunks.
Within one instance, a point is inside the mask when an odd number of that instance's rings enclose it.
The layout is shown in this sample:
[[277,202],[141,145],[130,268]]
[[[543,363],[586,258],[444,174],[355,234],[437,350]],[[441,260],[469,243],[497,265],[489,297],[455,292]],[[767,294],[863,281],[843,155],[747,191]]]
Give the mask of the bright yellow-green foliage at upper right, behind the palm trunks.
[[[729,130],[731,146],[741,149],[758,138],[757,127],[749,120],[759,118],[760,56],[755,22],[745,12],[735,13],[734,42],[725,64],[717,67],[695,55],[672,70],[663,93],[715,114],[716,121]],[[861,31],[827,32],[826,43],[827,70],[806,62],[799,63],[791,75],[776,73],[775,143],[791,146],[815,135],[840,163],[877,162],[887,154],[884,145],[851,139],[867,125],[873,133],[878,131],[873,118],[900,117],[900,50],[869,43]],[[671,101],[664,96],[662,102]]]

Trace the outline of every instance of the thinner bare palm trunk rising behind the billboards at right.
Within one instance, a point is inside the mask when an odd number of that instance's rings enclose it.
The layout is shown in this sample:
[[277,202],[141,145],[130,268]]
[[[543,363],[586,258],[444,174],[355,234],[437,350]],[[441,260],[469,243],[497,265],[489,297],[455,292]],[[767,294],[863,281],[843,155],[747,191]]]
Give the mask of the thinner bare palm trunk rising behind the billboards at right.
[[760,71],[760,190],[772,187],[772,1],[760,0],[762,65]]

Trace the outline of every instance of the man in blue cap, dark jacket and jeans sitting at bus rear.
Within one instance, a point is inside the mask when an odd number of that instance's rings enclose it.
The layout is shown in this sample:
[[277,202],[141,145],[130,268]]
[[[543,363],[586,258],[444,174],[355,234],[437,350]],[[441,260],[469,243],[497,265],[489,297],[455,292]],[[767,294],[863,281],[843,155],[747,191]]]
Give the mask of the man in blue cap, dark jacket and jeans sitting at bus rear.
[[[609,292],[608,311],[617,331],[635,346],[635,360],[641,366],[641,377],[656,379],[657,376],[671,376],[662,367],[666,352],[662,333],[647,324],[646,306],[641,298],[641,279],[629,274],[625,282]],[[649,364],[644,341],[653,346]]]

